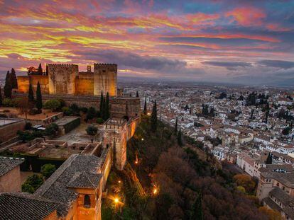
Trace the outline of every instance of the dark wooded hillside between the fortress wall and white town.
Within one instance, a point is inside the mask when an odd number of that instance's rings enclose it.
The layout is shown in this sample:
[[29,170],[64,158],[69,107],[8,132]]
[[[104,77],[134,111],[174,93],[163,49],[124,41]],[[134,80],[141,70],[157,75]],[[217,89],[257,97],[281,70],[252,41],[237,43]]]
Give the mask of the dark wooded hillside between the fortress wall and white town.
[[[252,196],[254,181],[220,169],[201,143],[184,137],[180,146],[175,129],[157,122],[152,132],[153,126],[143,116],[127,146],[126,169],[111,173],[108,185],[116,191],[110,192],[119,192],[124,205],[119,212],[104,202],[103,219],[268,219]],[[145,197],[135,193],[141,186]]]

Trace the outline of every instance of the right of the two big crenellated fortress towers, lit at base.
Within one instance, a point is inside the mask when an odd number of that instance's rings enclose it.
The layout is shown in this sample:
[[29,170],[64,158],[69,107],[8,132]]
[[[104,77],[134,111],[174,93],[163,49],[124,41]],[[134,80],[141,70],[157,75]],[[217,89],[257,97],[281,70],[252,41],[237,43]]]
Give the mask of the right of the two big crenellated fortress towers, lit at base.
[[94,64],[94,95],[117,96],[117,65]]

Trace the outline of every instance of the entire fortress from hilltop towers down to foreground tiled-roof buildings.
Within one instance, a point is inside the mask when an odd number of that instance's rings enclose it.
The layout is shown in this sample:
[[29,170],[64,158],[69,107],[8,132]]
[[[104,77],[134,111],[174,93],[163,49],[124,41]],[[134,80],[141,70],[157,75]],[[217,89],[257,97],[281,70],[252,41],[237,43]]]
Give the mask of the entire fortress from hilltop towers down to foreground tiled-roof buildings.
[[[109,93],[111,118],[104,122],[102,139],[84,143],[95,146],[98,151],[87,151],[86,147],[80,154],[72,154],[33,194],[0,193],[0,219],[100,220],[111,167],[124,169],[126,143],[140,122],[140,98],[118,94],[116,64],[94,64],[94,72],[91,66],[87,72],[79,72],[74,64],[48,64],[48,74],[18,76],[17,79],[15,97],[27,97],[30,84],[36,93],[39,82],[43,102],[62,98],[67,105],[75,103],[98,109],[101,92]],[[65,141],[59,142],[67,146]],[[41,140],[39,145],[52,143],[55,146],[57,142]]]

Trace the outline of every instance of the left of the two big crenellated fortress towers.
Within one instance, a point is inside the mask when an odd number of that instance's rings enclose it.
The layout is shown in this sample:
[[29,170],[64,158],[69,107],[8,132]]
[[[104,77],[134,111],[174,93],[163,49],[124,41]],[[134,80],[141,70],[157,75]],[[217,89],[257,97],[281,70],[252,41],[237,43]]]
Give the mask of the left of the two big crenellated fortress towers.
[[74,64],[48,64],[49,93],[74,95],[78,73],[79,66]]

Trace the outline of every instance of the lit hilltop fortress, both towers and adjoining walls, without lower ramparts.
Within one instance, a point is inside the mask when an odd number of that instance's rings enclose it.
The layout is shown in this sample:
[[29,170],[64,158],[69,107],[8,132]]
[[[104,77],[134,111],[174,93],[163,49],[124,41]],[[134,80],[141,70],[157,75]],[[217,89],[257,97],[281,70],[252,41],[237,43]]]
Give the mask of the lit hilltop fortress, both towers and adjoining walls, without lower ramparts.
[[86,72],[79,72],[76,64],[48,64],[44,75],[18,76],[18,92],[27,93],[31,83],[36,90],[49,95],[100,95],[109,93],[117,96],[117,65],[94,64],[94,71],[87,66]]

